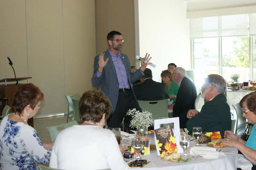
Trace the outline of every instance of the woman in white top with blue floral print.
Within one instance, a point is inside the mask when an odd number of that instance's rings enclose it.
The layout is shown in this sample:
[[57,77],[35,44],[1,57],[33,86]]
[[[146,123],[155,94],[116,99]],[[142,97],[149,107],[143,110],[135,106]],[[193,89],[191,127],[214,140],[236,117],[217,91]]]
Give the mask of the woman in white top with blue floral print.
[[32,83],[19,87],[12,102],[12,114],[0,125],[0,169],[36,170],[38,163],[48,163],[52,143],[42,143],[27,120],[34,117],[44,95]]

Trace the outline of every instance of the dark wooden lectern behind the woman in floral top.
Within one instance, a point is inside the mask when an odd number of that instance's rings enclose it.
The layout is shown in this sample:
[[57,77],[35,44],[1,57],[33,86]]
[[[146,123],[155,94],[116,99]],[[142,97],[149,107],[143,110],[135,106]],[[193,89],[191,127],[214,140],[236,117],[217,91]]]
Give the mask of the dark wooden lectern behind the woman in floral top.
[[[5,83],[5,84],[0,84],[0,97],[4,97],[4,98],[9,98],[10,101],[5,101],[2,102],[2,106],[1,106],[1,113],[3,111],[3,108],[5,107],[5,105],[8,106],[12,106],[12,100],[14,98],[14,93],[17,91],[17,89],[23,85],[23,84],[7,84],[9,82],[16,82],[16,80],[18,81],[22,81],[22,80],[27,80],[32,78],[32,77],[20,77],[20,78],[4,78],[4,79],[0,79],[0,83]],[[28,124],[31,125],[32,127],[34,127],[34,121],[33,121],[33,117],[31,119],[28,119]]]

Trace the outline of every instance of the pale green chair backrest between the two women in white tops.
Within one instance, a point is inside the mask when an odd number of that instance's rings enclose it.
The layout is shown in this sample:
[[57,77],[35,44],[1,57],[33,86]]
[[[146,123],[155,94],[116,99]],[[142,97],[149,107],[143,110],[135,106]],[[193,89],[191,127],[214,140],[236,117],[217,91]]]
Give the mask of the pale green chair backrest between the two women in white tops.
[[51,136],[51,140],[52,142],[56,140],[57,135],[60,133],[60,131],[62,131],[63,129],[66,129],[72,125],[77,125],[77,121],[72,121],[72,122],[68,122],[65,124],[60,124],[57,126],[47,126],[46,128],[48,129],[50,136]]

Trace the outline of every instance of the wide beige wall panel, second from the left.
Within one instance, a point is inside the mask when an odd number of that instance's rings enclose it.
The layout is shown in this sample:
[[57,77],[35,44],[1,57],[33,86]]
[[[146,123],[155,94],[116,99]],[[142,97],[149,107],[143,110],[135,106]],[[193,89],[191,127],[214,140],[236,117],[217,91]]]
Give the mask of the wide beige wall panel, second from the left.
[[28,75],[45,95],[37,114],[64,112],[61,0],[26,0]]

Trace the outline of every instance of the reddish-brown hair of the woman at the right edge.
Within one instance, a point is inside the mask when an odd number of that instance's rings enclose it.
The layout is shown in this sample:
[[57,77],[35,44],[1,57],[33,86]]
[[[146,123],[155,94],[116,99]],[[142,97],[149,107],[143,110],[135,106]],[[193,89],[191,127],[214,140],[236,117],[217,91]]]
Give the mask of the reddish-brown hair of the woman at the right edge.
[[245,95],[239,102],[239,105],[242,107],[244,103],[247,108],[256,115],[256,92]]

